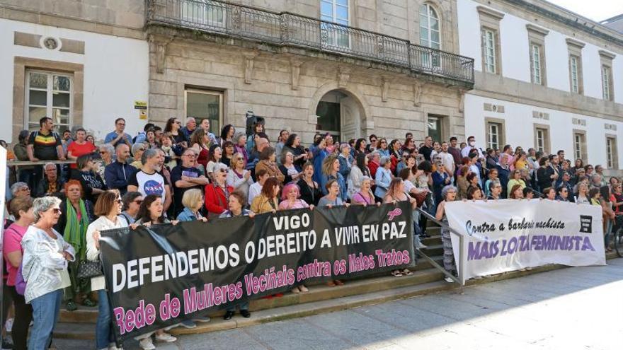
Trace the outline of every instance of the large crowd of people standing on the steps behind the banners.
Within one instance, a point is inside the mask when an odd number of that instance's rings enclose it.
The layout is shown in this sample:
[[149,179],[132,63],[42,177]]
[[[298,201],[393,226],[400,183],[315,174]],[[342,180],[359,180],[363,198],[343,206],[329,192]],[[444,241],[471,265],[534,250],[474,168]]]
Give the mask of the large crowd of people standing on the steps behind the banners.
[[[208,119],[198,124],[187,118],[182,127],[180,120],[170,118],[164,129],[148,123],[132,137],[124,132],[125,119],[119,118],[115,130],[96,145],[84,129],[62,136],[53,130],[52,119],[42,118],[38,131],[19,134],[9,156],[75,161],[67,168],[55,163],[22,166],[14,174],[4,259],[14,305],[15,349],[44,349],[59,308],[72,311],[78,304],[98,307],[97,348],[116,349],[103,276],[78,276],[83,262],[98,261],[99,233],[111,228],[408,201],[414,243],[422,249],[427,220],[418,209],[446,221],[446,202],[540,197],[601,206],[605,247],[610,250],[610,233],[623,214],[622,185],[617,177],[606,179],[600,165],[569,161],[564,151],[546,154],[510,145],[483,149],[474,136],[460,145],[456,137],[443,141],[426,136],[416,145],[411,133],[389,142],[372,134],[342,143],[331,134],[316,134],[305,146],[299,134],[288,130],[271,140],[263,121],[253,124],[248,134],[232,125],[214,134]],[[456,273],[450,231],[442,228],[441,237],[444,267]],[[18,269],[27,282],[23,295],[16,290]],[[413,273],[402,269],[391,274]],[[292,289],[307,291],[307,286]],[[241,303],[226,310],[225,320],[234,316],[236,306],[243,317],[250,317],[248,303]],[[208,321],[200,315],[177,326],[193,328]],[[142,335],[139,344],[155,349],[154,339],[176,340],[160,329]]]

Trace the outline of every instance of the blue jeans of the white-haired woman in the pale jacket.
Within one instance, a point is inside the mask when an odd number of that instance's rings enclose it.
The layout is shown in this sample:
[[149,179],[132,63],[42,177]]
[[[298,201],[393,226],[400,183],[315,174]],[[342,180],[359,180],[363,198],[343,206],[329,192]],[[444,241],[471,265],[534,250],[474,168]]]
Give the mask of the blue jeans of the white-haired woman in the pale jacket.
[[47,345],[52,340],[52,331],[54,331],[58,320],[62,297],[62,289],[57,289],[30,301],[33,305],[35,325],[33,325],[33,329],[30,329],[28,350],[47,349]]

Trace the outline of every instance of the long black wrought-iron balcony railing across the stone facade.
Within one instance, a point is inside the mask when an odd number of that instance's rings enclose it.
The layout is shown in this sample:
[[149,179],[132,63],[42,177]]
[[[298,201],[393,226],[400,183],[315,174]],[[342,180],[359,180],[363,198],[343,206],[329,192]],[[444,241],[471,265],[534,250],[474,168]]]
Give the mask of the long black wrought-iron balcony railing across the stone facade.
[[152,24],[317,49],[474,83],[474,59],[389,35],[217,0],[147,0]]

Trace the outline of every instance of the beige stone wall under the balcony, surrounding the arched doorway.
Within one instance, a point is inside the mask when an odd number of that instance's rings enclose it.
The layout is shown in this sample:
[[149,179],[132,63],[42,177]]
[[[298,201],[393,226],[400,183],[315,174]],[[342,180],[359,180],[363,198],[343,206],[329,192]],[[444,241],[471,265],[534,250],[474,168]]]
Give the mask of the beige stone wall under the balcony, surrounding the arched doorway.
[[[164,66],[159,72],[159,44],[168,42]],[[245,79],[246,57],[253,70]],[[292,86],[292,62],[300,63],[298,85]],[[253,110],[267,118],[269,136],[288,127],[308,143],[315,133],[319,99],[339,89],[358,100],[364,134],[404,138],[407,131],[421,140],[426,133],[427,113],[447,116],[447,137],[464,136],[459,112],[461,98],[456,89],[416,78],[329,62],[292,54],[254,52],[241,47],[199,40],[152,38],[150,44],[149,119],[163,123],[168,117],[185,117],[186,87],[224,91],[224,124],[244,127],[244,114]],[[418,84],[421,93],[417,93]]]

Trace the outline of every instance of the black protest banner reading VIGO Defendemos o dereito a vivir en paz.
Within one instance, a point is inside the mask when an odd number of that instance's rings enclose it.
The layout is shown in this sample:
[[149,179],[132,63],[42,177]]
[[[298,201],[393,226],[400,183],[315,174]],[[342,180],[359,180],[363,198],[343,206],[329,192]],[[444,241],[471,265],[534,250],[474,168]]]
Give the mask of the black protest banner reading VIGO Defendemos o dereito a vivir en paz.
[[115,332],[136,337],[308,281],[407,267],[411,214],[403,202],[104,231]]

